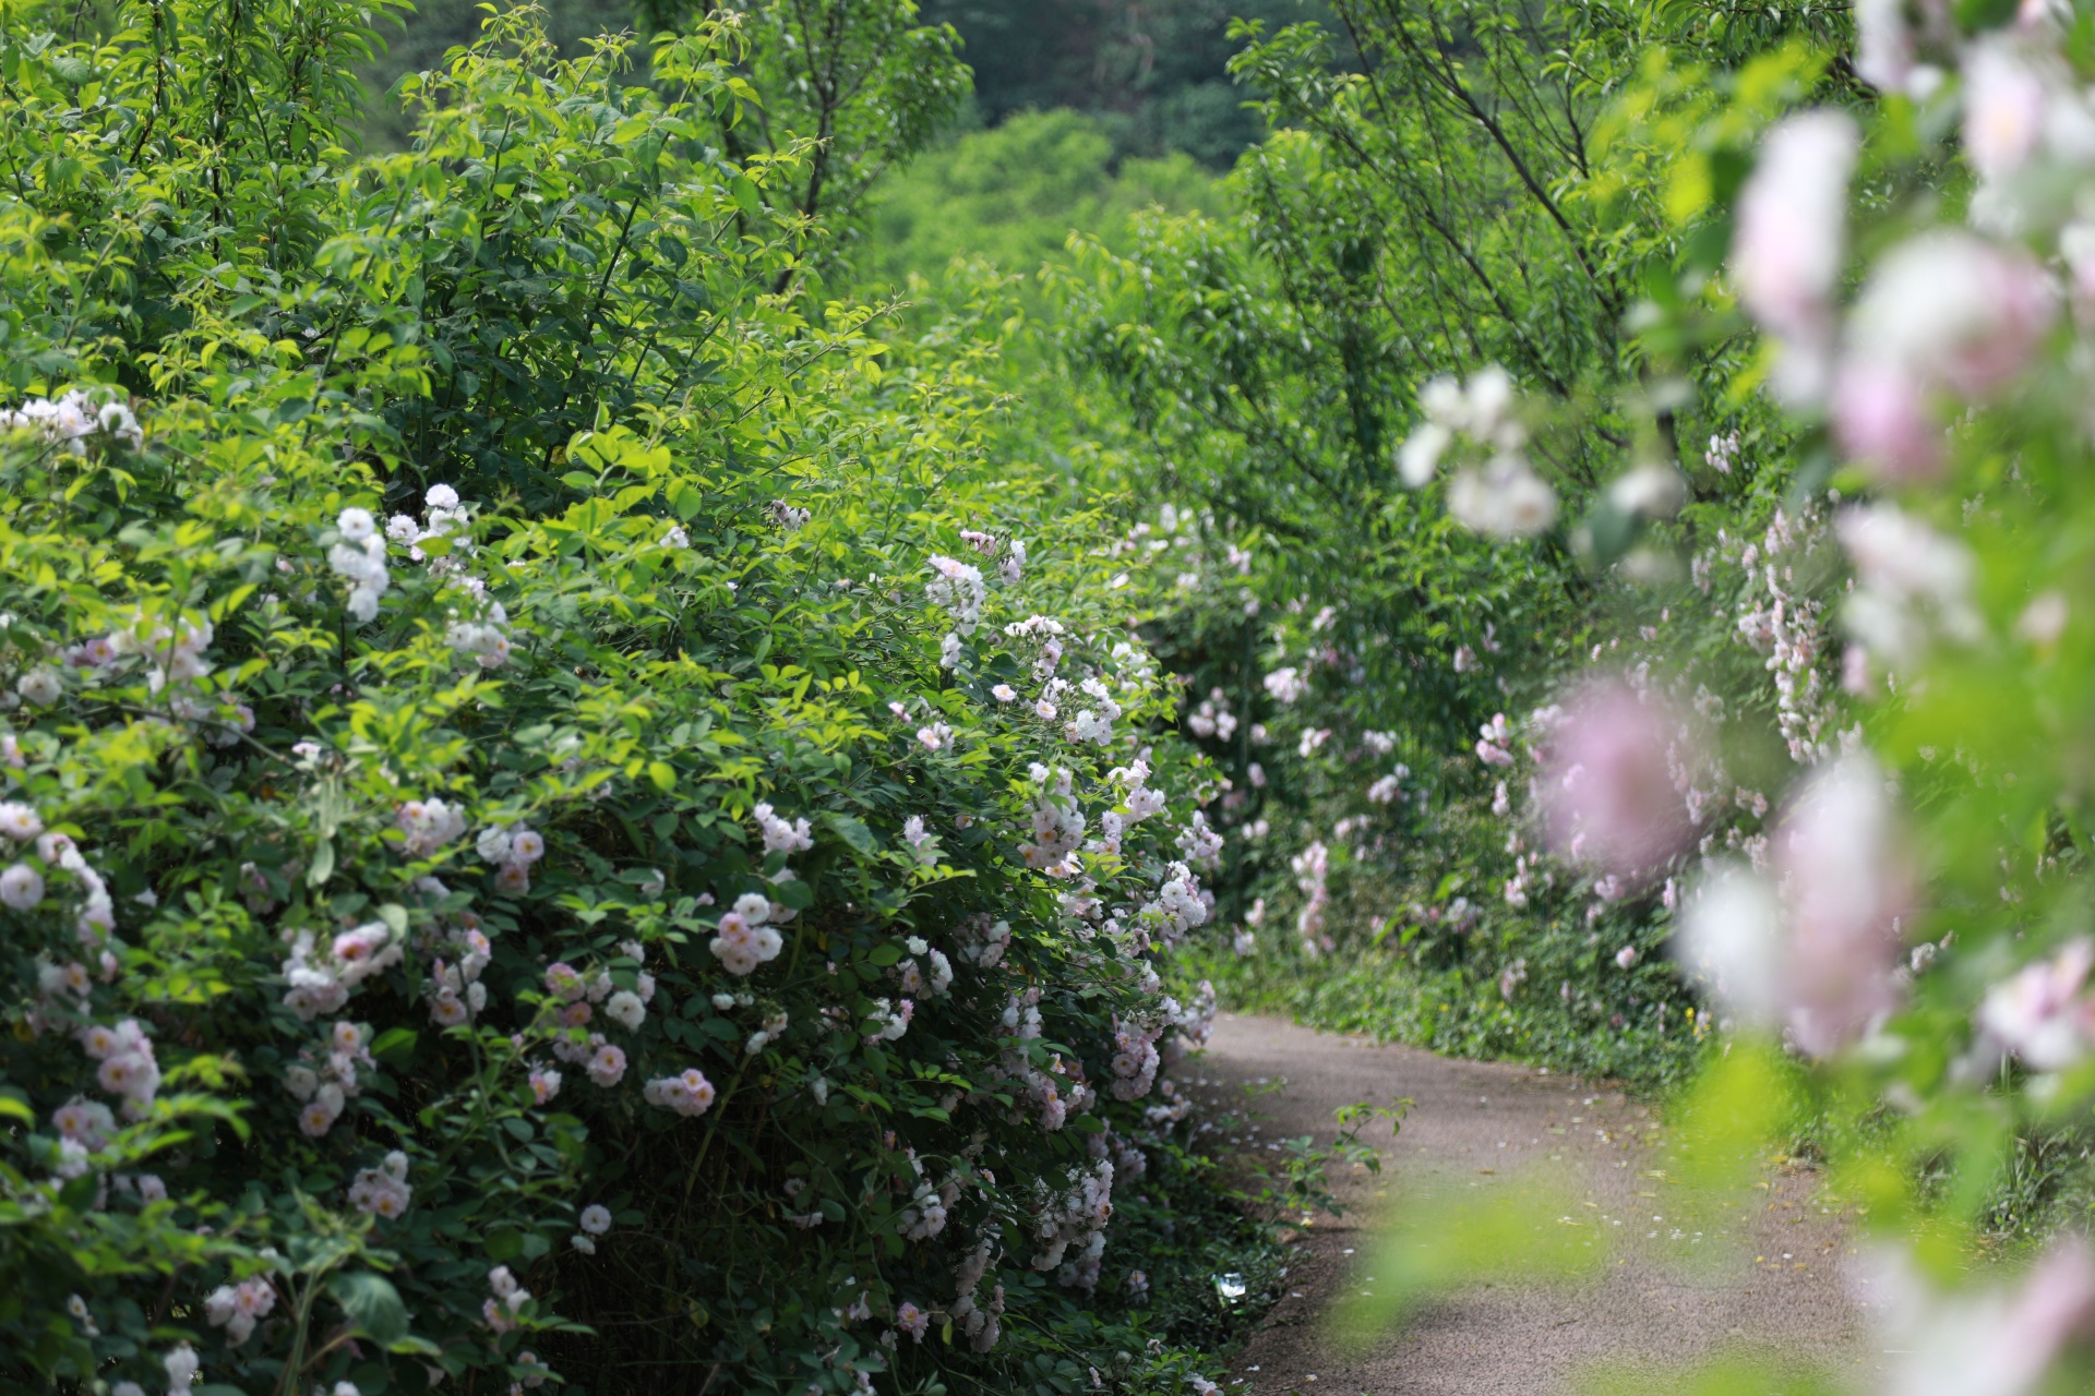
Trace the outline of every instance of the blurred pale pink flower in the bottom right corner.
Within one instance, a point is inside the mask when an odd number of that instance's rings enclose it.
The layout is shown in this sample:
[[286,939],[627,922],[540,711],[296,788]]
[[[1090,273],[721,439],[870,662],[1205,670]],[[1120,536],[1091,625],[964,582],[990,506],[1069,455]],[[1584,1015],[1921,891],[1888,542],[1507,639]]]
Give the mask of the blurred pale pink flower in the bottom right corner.
[[[2013,1291],[1946,1300],[1900,1254],[1856,1277],[1900,1363],[1894,1396],[2026,1396],[2074,1342],[2095,1335],[2095,1254],[2059,1237]],[[2064,1388],[2059,1388],[2064,1390]]]

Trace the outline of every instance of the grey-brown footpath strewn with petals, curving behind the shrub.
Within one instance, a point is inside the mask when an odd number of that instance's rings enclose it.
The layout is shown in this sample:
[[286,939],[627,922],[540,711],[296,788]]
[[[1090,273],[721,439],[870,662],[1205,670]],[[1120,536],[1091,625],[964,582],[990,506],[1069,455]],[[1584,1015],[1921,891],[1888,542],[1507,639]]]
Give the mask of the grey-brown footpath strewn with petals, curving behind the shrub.
[[[1387,1122],[1362,1136],[1383,1157],[1381,1176],[1332,1178],[1347,1214],[1318,1218],[1297,1245],[1286,1298],[1238,1360],[1232,1396],[1663,1392],[1670,1369],[1730,1348],[1781,1348],[1860,1386],[1883,1360],[1844,1283],[1850,1249],[1814,1199],[1812,1174],[1772,1172],[1730,1241],[1682,1231],[1674,1222],[1686,1218],[1666,1216],[1653,1111],[1619,1090],[1228,1013],[1190,1076],[1205,1101],[1249,1111],[1251,1149],[1301,1134],[1328,1145],[1341,1105],[1412,1099],[1397,1139]],[[1278,1093],[1244,1093],[1282,1078]],[[1622,1239],[1605,1275],[1571,1287],[1477,1285],[1364,1352],[1341,1352],[1322,1319],[1341,1293],[1372,1289],[1379,1214],[1404,1224],[1408,1193],[1538,1174],[1569,1191],[1578,1222],[1598,1229],[1590,1235]],[[1613,1377],[1601,1381],[1596,1363]],[[1768,1392],[1781,1390],[1770,1369]]]

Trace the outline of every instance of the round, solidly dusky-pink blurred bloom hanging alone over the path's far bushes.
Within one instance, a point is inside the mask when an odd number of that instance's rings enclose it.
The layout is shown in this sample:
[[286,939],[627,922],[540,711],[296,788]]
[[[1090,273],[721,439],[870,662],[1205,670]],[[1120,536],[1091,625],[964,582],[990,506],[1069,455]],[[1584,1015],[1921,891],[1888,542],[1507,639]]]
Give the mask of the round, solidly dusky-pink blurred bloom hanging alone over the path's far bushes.
[[1695,835],[1674,772],[1697,764],[1693,728],[1657,695],[1590,682],[1565,705],[1542,766],[1550,848],[1622,877],[1657,871]]

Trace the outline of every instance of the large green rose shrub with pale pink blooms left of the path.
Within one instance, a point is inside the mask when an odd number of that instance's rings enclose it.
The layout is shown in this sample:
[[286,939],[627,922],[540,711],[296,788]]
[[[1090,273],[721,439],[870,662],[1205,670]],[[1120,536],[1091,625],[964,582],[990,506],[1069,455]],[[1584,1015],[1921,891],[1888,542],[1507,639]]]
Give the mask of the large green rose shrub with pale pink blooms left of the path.
[[8,1379],[1175,1383],[1219,783],[978,327],[771,293],[767,36],[354,161],[358,8],[124,17],[0,40]]

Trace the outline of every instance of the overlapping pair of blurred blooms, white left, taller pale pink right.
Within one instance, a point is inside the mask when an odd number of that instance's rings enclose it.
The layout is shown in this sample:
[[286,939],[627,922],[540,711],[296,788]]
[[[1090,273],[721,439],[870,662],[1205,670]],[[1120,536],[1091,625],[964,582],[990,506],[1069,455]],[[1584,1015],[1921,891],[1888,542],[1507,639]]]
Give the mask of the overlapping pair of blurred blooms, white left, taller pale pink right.
[[1827,1057],[1896,1007],[1900,919],[1913,906],[1869,756],[1846,756],[1804,787],[1774,833],[1774,875],[1772,885],[1745,871],[1705,883],[1680,954],[1741,1019],[1785,1026],[1802,1051]]

